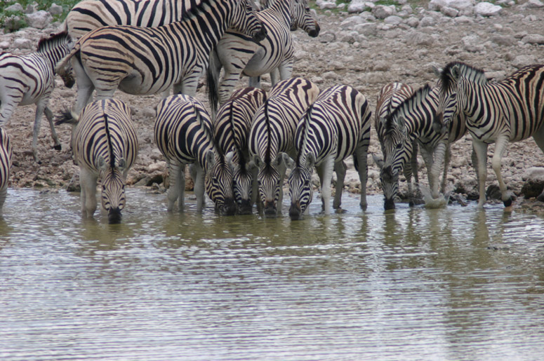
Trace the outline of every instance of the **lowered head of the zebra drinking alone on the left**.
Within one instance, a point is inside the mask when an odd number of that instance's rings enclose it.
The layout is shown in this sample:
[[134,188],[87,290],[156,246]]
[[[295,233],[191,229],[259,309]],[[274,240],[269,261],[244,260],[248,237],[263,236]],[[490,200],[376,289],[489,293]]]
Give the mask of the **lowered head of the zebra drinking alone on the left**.
[[113,168],[100,156],[98,158],[102,183],[102,208],[107,211],[110,223],[121,222],[121,210],[125,207],[125,179],[123,172],[126,161],[121,158]]

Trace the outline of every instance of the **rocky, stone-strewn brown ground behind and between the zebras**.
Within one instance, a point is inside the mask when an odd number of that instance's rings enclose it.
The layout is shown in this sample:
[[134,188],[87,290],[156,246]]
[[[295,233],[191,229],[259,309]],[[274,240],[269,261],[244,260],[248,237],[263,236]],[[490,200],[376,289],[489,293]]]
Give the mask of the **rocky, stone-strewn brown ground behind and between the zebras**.
[[[355,6],[360,4],[364,6]],[[318,0],[317,7],[324,8],[317,10],[321,34],[312,39],[300,30],[293,33],[297,49],[293,76],[304,76],[320,88],[339,83],[354,86],[369,99],[374,109],[378,92],[386,83],[402,81],[414,88],[434,83],[433,65],[444,67],[448,62],[460,60],[484,69],[494,79],[502,79],[526,64],[542,62],[544,5],[538,0],[521,4],[505,1],[502,8],[489,8],[484,15],[470,1],[433,0],[418,4],[374,6],[354,2],[338,9],[336,5]],[[330,10],[332,7],[335,8]],[[370,7],[371,11],[359,12]],[[347,10],[355,12],[348,13]],[[44,29],[27,27],[2,34],[0,49],[28,53],[36,48],[41,37],[58,31],[60,24],[54,23]],[[270,88],[267,79],[265,76],[265,89]],[[240,86],[245,84],[246,79],[239,83]],[[58,79],[50,103],[53,112],[58,114],[62,109],[72,107],[75,95],[75,87],[67,89]],[[128,184],[164,189],[166,163],[152,140],[154,107],[159,96],[137,97],[121,92],[116,96],[131,105],[140,141],[138,162],[128,175]],[[205,87],[199,89],[197,97],[206,101]],[[51,131],[44,119],[39,135],[42,161],[35,163],[30,149],[34,110],[34,106],[19,107],[11,117],[11,123],[6,125],[13,142],[11,187],[67,188],[79,172],[69,153],[70,129],[58,127],[62,151],[55,151]],[[367,192],[376,194],[381,193],[379,171],[371,155],[381,152],[374,130],[371,137]],[[470,136],[465,136],[451,148],[448,189],[465,198],[474,198],[477,196],[476,177],[470,161]],[[491,154],[493,146],[489,151]],[[543,167],[543,161],[543,154],[532,139],[509,145],[503,157],[503,176],[519,200],[523,198],[524,173],[532,167]],[[489,163],[487,183],[496,184]],[[422,158],[419,165],[420,181],[427,184]],[[359,186],[356,173],[348,172],[346,189],[356,193]],[[406,182],[402,182],[401,190],[406,190]]]

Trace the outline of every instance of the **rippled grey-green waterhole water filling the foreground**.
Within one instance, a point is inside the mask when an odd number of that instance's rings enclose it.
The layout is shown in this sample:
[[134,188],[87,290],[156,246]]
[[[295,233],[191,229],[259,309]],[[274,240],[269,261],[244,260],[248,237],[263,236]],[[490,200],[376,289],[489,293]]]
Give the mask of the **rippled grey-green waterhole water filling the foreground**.
[[129,189],[110,225],[10,190],[0,360],[541,359],[544,219],[358,201],[291,222]]

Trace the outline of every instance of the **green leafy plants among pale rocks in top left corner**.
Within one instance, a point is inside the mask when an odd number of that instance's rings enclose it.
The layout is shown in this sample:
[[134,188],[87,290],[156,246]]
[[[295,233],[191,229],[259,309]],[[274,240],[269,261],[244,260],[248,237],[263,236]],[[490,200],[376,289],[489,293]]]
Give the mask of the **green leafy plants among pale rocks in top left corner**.
[[16,31],[22,27],[27,26],[25,20],[25,13],[22,11],[6,11],[8,6],[13,4],[20,4],[23,9],[27,6],[36,6],[37,10],[48,11],[52,4],[62,6],[62,13],[60,15],[53,15],[53,21],[62,21],[66,18],[66,15],[72,9],[72,7],[79,3],[80,0],[6,0],[1,1],[2,6],[0,8],[0,27],[6,27],[6,31]]

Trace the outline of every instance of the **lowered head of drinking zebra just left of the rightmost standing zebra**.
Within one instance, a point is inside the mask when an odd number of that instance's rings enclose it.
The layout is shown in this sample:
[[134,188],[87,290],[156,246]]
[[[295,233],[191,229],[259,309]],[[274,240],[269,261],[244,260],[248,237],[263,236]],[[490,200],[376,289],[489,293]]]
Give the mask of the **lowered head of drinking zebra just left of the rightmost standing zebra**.
[[383,135],[383,161],[374,161],[380,168],[380,181],[385,197],[385,210],[394,209],[394,198],[399,191],[399,173],[412,154],[412,141],[406,133],[403,116],[388,116],[380,121],[385,125]]

